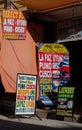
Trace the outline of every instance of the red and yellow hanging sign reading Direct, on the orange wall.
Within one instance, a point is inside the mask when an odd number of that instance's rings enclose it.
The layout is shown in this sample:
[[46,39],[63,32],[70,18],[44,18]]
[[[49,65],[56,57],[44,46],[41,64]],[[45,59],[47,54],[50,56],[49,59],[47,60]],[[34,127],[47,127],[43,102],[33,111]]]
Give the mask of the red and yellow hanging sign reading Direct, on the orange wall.
[[25,39],[27,21],[21,11],[3,10],[3,38]]

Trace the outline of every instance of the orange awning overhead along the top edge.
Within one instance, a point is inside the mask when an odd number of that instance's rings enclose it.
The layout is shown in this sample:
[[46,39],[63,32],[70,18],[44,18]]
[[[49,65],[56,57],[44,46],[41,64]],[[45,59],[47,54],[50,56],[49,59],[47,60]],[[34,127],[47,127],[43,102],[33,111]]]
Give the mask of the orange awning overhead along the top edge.
[[82,0],[16,0],[16,3],[38,12],[80,4]]

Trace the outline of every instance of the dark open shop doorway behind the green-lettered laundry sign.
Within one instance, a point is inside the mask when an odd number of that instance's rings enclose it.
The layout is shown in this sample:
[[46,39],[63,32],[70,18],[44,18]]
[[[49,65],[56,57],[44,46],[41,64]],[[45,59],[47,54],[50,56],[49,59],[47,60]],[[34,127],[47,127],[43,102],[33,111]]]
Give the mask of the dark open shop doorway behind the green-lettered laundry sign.
[[82,41],[63,43],[70,55],[70,86],[75,90],[75,106],[82,107]]

